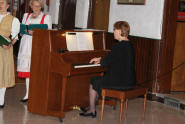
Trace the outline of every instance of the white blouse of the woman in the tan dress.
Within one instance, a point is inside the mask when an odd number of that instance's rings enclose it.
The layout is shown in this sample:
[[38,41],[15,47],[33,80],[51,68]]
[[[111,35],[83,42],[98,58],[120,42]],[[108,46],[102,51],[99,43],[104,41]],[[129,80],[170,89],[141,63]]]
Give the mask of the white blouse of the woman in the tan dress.
[[[0,14],[0,22],[8,14],[10,14],[10,13],[8,12],[7,14],[4,14],[4,15]],[[19,31],[20,31],[20,22],[19,22],[19,20],[16,17],[14,17],[13,18],[13,22],[12,22],[12,29],[11,29],[12,39],[14,39],[14,38],[18,39]]]

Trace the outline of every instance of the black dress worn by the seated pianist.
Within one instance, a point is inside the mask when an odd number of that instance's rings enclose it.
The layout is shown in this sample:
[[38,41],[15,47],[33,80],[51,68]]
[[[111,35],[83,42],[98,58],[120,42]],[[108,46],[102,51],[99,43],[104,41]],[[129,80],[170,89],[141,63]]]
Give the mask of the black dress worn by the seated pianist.
[[130,41],[116,43],[100,61],[107,71],[103,77],[91,78],[93,89],[101,96],[101,88],[130,89],[136,85],[135,54]]

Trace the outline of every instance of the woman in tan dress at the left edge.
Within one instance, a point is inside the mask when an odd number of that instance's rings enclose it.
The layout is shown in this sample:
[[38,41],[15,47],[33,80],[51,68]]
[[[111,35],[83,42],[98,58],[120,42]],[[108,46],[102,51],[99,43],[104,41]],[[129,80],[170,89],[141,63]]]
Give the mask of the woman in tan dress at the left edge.
[[0,0],[0,35],[10,41],[0,46],[0,108],[4,107],[6,88],[15,85],[13,45],[18,39],[20,22],[7,9],[9,0]]

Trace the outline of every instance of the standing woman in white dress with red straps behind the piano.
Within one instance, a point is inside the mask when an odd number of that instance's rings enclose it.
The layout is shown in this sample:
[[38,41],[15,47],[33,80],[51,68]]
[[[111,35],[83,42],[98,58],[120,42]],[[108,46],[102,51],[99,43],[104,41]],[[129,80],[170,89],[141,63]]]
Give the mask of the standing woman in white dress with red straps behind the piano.
[[[48,29],[52,28],[52,21],[49,15],[44,14],[41,10],[44,7],[43,0],[30,0],[30,7],[33,13],[25,13],[22,24],[47,24]],[[18,52],[17,72],[18,77],[26,78],[26,94],[21,102],[27,102],[29,92],[32,34],[33,30],[28,30],[28,34],[23,34]]]

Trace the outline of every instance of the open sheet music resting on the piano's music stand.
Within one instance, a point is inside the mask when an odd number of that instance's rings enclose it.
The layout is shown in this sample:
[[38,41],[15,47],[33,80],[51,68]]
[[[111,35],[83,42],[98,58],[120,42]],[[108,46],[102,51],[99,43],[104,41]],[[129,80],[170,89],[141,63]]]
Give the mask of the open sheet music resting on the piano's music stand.
[[94,50],[92,32],[66,32],[69,51]]

